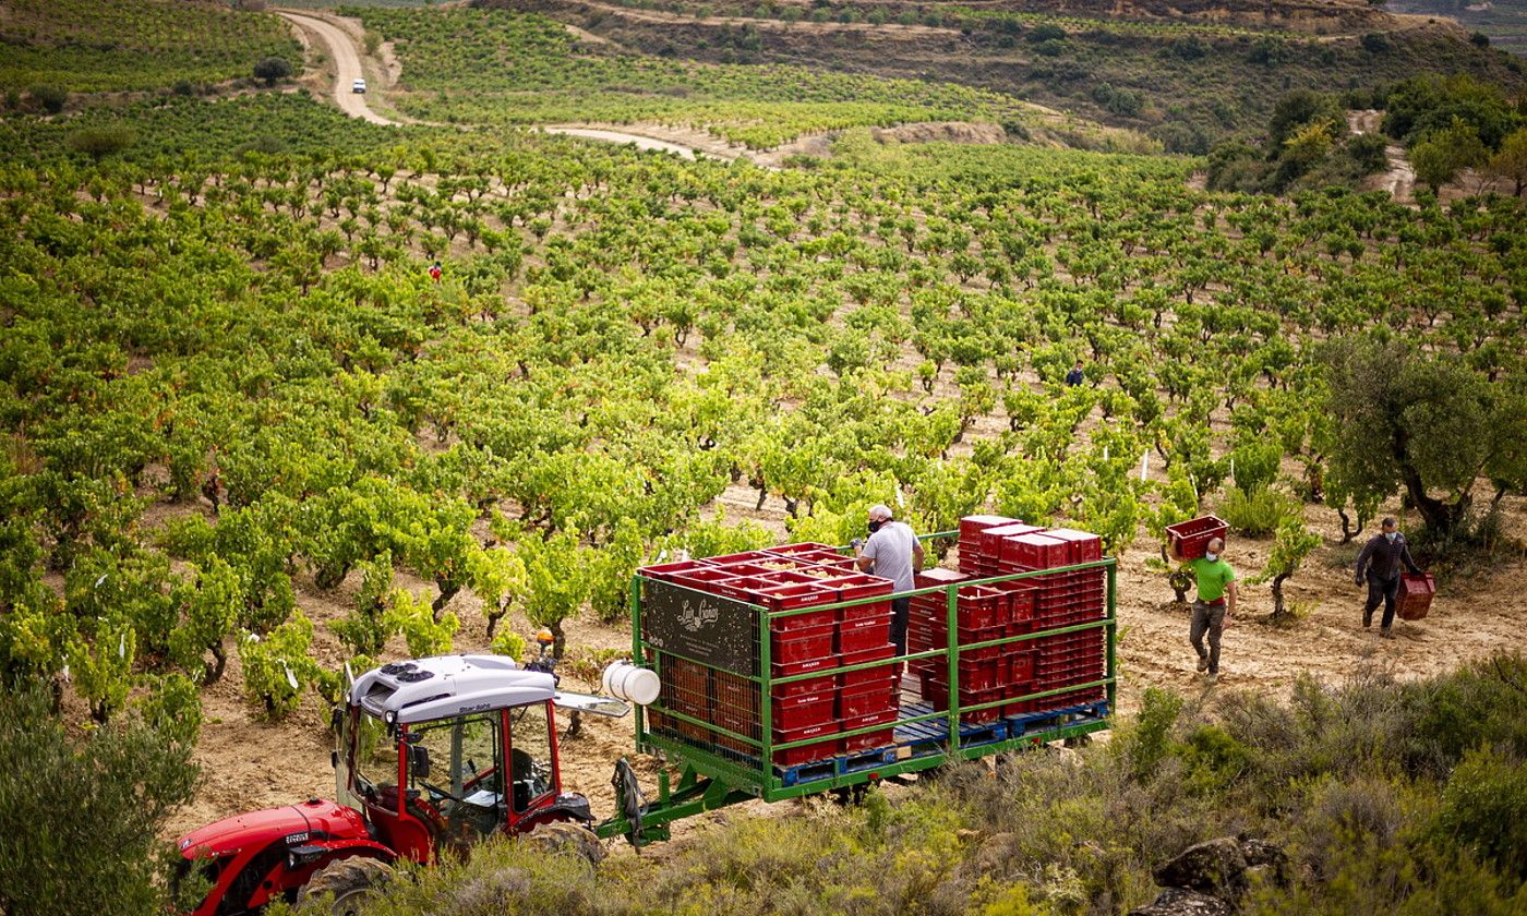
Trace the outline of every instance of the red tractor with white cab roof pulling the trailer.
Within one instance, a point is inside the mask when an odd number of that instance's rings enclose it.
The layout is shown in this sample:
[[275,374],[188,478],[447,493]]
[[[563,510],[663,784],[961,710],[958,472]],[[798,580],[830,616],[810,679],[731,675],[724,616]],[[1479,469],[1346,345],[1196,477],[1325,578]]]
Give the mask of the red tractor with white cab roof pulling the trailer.
[[586,831],[594,820],[588,798],[562,791],[557,704],[614,716],[628,710],[559,693],[550,670],[496,655],[368,672],[334,711],[337,803],[308,798],[243,814],[180,840],[182,876],[199,872],[212,884],[192,916],[255,913],[328,892],[333,911],[350,913],[389,878],[394,860],[434,863],[492,834],[544,827],[602,853]]

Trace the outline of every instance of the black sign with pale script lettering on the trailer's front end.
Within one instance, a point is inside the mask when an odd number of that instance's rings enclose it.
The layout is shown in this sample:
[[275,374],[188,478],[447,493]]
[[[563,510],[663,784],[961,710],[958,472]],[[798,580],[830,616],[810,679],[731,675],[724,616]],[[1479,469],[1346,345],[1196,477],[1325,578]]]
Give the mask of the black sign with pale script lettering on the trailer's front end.
[[739,675],[756,675],[757,614],[744,602],[643,580],[641,637],[658,649]]

